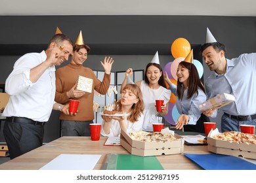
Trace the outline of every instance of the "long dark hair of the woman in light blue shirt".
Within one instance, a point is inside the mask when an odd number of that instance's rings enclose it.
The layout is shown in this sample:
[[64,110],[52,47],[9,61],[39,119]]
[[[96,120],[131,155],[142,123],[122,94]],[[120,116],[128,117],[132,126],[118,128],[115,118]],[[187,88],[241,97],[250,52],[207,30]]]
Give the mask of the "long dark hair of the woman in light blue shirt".
[[[198,75],[198,69],[196,69],[196,66],[193,63],[188,63],[186,61],[181,61],[179,63],[182,67],[188,69],[189,76],[188,76],[188,96],[187,99],[190,99],[194,93],[198,95],[198,88],[203,90],[205,93],[205,88],[199,78]],[[179,99],[182,99],[184,90],[182,90],[182,82],[179,82],[179,79],[177,80],[177,96]]]

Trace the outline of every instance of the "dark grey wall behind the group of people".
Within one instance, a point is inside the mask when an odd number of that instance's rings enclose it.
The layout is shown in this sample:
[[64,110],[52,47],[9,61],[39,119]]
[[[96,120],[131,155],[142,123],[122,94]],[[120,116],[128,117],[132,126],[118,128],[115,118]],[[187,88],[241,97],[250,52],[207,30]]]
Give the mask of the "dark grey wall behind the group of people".
[[[156,50],[162,67],[173,61],[170,47],[179,37],[193,48],[205,42],[206,27],[226,45],[227,58],[256,50],[256,17],[234,16],[0,16],[0,83],[16,59],[26,52],[41,52],[56,26],[74,41],[80,30],[92,51],[86,67],[102,71],[100,60],[112,56],[112,71],[144,69]],[[201,60],[199,53],[194,58]],[[204,66],[204,78],[209,69]],[[214,120],[219,123],[220,118]],[[58,112],[45,125],[45,142],[59,136]]]

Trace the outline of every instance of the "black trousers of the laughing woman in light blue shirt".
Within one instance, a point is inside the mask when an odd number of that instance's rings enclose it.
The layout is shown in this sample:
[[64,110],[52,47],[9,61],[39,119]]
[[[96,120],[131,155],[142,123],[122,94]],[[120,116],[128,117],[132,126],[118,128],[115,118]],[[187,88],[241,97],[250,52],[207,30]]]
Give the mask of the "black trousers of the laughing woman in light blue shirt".
[[184,125],[184,131],[195,131],[199,133],[205,133],[203,122],[210,122],[210,119],[202,113],[200,118],[196,122],[196,125]]

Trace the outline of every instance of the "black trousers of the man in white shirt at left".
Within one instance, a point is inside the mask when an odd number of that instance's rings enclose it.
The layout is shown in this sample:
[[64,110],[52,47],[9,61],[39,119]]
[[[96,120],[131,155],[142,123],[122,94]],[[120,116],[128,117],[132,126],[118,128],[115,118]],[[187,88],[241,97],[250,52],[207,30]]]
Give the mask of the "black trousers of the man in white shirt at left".
[[5,121],[3,134],[9,149],[10,158],[16,158],[43,145],[44,127]]

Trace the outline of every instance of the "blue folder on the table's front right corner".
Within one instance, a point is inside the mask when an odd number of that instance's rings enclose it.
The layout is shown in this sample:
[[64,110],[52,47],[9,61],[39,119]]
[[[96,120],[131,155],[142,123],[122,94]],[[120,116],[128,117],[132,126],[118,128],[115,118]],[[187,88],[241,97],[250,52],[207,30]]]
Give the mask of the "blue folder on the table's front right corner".
[[205,170],[256,170],[256,165],[245,159],[221,154],[186,154]]

